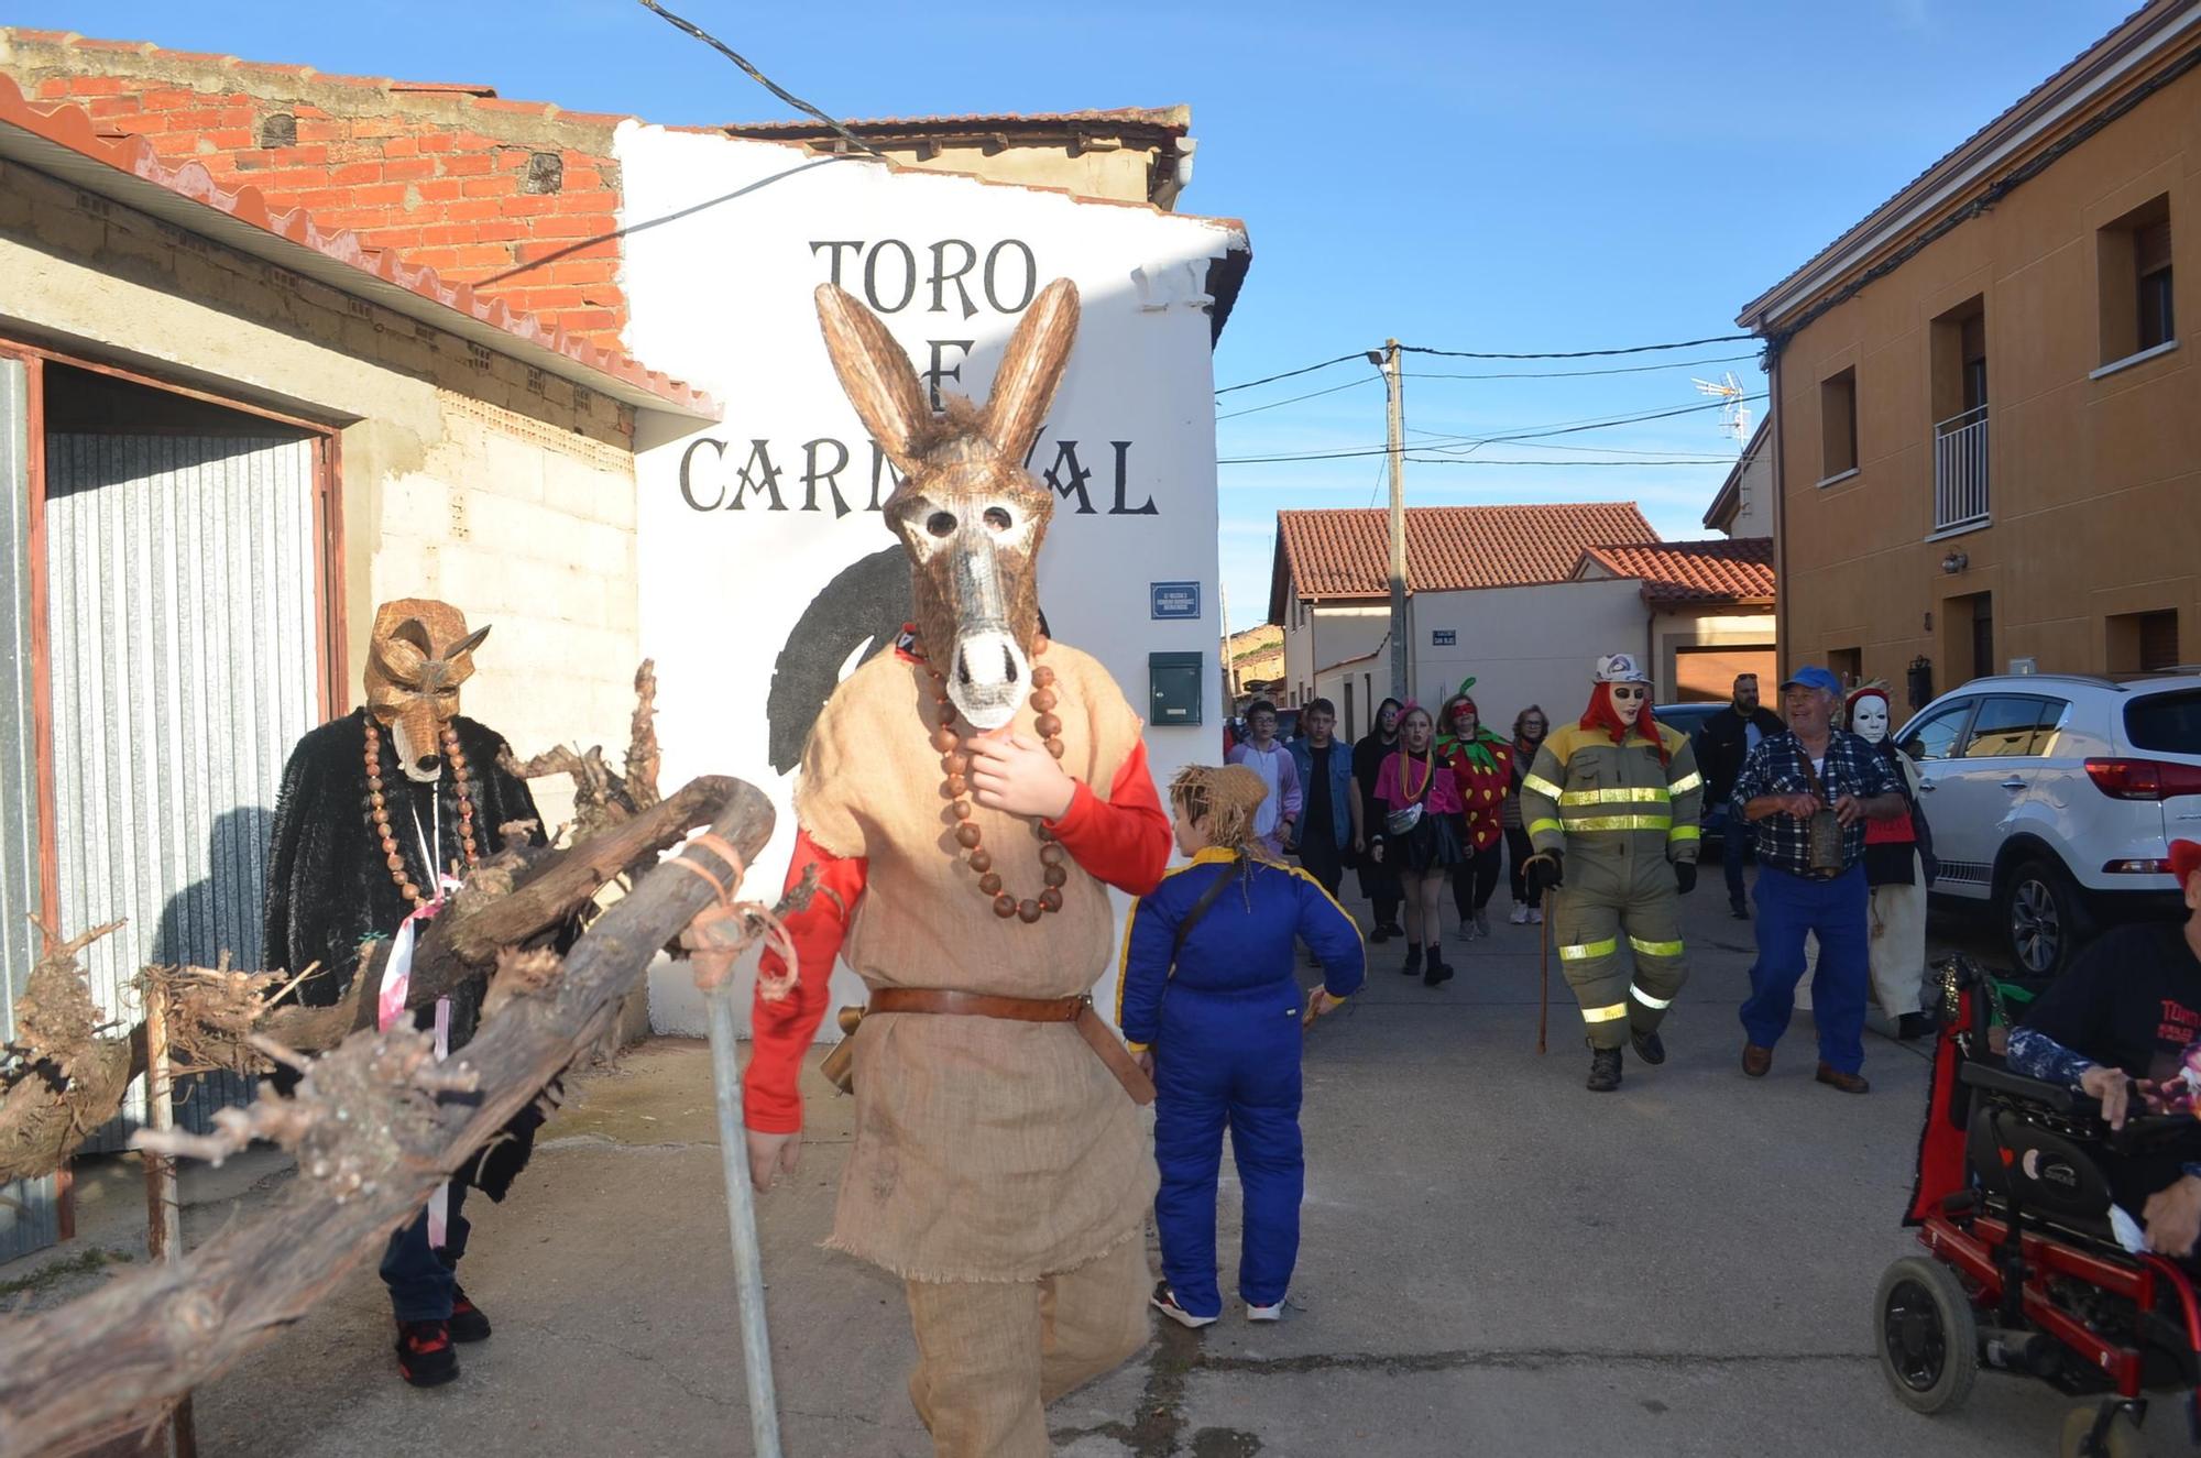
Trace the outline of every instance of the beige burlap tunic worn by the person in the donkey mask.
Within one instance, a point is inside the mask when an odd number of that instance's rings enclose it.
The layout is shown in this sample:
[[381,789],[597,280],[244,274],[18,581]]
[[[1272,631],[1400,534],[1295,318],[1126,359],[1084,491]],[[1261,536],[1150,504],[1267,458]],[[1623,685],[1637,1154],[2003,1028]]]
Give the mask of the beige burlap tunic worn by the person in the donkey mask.
[[[1103,799],[1140,720],[1094,659],[1052,643],[1063,769]],[[795,813],[865,894],[841,956],[869,987],[1012,998],[1089,993],[1107,969],[1107,888],[1067,863],[1063,910],[1026,925],[993,912],[960,859],[931,747],[931,678],[878,654],[825,703]],[[1015,733],[1039,742],[1030,705]],[[1015,896],[1043,879],[1034,822],[975,808]],[[830,1247],[920,1282],[1026,1282],[1140,1236],[1153,1203],[1151,1119],[1070,1024],[883,1013],[856,1033],[856,1147]]]

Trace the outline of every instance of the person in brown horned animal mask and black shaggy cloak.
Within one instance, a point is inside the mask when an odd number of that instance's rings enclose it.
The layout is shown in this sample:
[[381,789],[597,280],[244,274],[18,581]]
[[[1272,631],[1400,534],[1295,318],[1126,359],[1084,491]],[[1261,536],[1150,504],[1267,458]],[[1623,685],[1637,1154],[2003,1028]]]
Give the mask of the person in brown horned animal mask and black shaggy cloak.
[[[539,822],[526,782],[502,769],[504,740],[458,711],[458,689],[473,674],[473,650],[489,628],[467,632],[451,603],[407,597],[374,610],[368,641],[368,703],[313,729],[291,751],[269,844],[264,954],[304,971],[295,998],[308,1007],[341,1002],[359,978],[370,943],[409,947],[418,925],[482,857],[504,848],[504,828]],[[541,844],[541,828],[528,830]],[[398,958],[363,998],[396,995]],[[420,1009],[447,1048],[473,1037],[482,984],[462,984],[442,1007]],[[383,1022],[387,1026],[387,1020]],[[277,1075],[277,1086],[288,1081]],[[475,1165],[453,1178],[429,1209],[398,1229],[383,1251],[383,1284],[398,1321],[398,1374],[416,1388],[458,1377],[453,1341],[489,1337],[482,1315],[458,1286],[467,1253],[467,1185],[504,1198],[533,1145],[541,1117],[533,1106]]]

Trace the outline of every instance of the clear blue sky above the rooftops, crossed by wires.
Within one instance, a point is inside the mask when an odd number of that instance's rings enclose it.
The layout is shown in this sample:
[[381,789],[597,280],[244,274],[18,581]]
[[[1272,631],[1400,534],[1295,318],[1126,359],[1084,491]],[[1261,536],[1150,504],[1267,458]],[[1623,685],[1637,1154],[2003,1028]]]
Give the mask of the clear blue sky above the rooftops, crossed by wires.
[[[1180,207],[1244,218],[1255,264],[1219,385],[1404,344],[1598,350],[1734,333],[1737,308],[2117,24],[2135,0],[1849,0],[1523,7],[1492,0],[1112,7],[669,0],[836,115],[1193,106]],[[152,40],[354,75],[478,81],[506,97],[667,123],[790,115],[629,0],[242,4],[18,0],[11,24]],[[1723,355],[1745,355],[1726,363]],[[1576,379],[1435,379],[1673,361]],[[1409,438],[1701,403],[1690,377],[1763,374],[1748,344],[1609,361],[1413,357]],[[1413,379],[1420,372],[1422,379]],[[1362,363],[1224,394],[1219,456],[1382,443]],[[1763,412],[1763,405],[1754,405]],[[1413,432],[1422,432],[1415,436]],[[1699,518],[1734,443],[1717,412],[1486,445],[1411,465],[1409,500],[1638,500],[1668,537]],[[1679,467],[1640,458],[1697,458]],[[1589,460],[1618,465],[1587,465]],[[1268,601],[1279,507],[1367,507],[1380,456],[1226,465],[1233,623]]]

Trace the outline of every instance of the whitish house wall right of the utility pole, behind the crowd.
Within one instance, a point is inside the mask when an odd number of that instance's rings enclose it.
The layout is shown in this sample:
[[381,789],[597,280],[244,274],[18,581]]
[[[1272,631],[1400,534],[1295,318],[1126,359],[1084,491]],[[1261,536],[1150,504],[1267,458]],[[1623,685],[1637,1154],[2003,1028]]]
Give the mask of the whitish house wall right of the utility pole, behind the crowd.
[[[1415,698],[1435,711],[1475,674],[1475,705],[1499,733],[1532,703],[1554,725],[1578,718],[1598,659],[1642,656],[1651,625],[1633,579],[1415,592],[1413,606]],[[1457,645],[1433,645],[1439,630],[1450,630]]]

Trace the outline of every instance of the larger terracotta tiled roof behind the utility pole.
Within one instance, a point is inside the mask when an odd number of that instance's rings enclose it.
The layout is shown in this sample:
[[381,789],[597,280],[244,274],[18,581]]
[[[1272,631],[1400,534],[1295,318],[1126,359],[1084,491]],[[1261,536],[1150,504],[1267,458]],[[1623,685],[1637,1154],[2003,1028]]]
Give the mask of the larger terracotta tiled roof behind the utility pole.
[[[1635,502],[1565,507],[1406,507],[1413,592],[1567,581],[1598,542],[1657,542]],[[1283,612],[1283,568],[1299,597],[1387,597],[1391,524],[1382,507],[1277,513],[1270,617]]]

